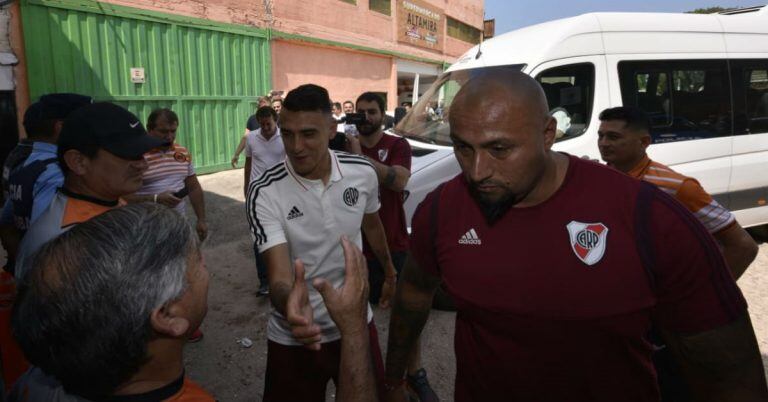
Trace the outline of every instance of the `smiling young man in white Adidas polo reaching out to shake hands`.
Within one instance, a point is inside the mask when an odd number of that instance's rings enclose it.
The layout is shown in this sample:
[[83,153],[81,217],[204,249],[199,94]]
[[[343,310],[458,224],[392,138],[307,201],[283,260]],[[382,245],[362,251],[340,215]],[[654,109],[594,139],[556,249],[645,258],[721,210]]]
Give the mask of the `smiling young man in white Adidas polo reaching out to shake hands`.
[[[345,272],[340,238],[346,236],[359,248],[362,229],[382,266],[395,275],[377,213],[376,172],[363,157],[329,151],[335,125],[324,88],[308,84],[289,92],[280,114],[286,160],[248,189],[248,220],[267,264],[273,306],[265,402],[324,401],[328,380],[338,384],[340,334],[317,290],[308,286],[310,306],[301,320],[285,318],[294,266],[304,267],[309,283],[322,278],[338,288]],[[382,297],[393,291],[382,289]],[[381,351],[370,308],[367,314],[370,352],[381,384]]]

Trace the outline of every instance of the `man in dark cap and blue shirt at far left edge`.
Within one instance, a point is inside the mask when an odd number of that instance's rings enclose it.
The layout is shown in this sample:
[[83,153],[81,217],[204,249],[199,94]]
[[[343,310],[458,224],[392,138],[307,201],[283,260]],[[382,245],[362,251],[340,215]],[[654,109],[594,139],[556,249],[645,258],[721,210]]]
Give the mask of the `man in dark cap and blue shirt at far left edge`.
[[56,163],[56,141],[64,119],[76,109],[92,102],[88,96],[57,93],[43,95],[24,114],[28,140],[11,151],[3,167],[3,206],[0,233],[9,253],[6,269],[13,271],[13,256],[18,242],[48,207],[64,175]]

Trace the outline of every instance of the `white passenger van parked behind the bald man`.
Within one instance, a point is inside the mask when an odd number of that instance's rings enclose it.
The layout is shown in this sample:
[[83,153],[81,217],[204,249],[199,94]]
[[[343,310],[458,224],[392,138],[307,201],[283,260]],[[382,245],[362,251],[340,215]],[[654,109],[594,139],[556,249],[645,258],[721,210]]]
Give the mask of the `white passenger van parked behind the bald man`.
[[408,222],[460,172],[448,110],[467,80],[523,71],[558,119],[555,150],[600,158],[598,115],[633,105],[651,117],[652,159],[695,177],[743,226],[768,223],[768,6],[734,15],[594,13],[475,46],[443,73],[395,132],[414,158]]

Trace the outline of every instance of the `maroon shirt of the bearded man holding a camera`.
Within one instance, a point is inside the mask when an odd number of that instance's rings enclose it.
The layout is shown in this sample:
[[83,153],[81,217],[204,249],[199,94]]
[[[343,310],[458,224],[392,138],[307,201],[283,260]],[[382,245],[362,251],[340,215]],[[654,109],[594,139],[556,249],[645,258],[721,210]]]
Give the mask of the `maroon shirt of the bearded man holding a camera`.
[[[411,145],[403,137],[384,134],[373,148],[361,146],[363,154],[377,162],[387,166],[402,166],[411,170]],[[403,193],[392,191],[384,186],[379,186],[379,198],[381,208],[379,218],[384,225],[387,234],[387,245],[390,252],[408,250],[408,229],[405,223],[405,210],[403,209]],[[363,252],[365,258],[375,259],[368,240],[363,237]]]

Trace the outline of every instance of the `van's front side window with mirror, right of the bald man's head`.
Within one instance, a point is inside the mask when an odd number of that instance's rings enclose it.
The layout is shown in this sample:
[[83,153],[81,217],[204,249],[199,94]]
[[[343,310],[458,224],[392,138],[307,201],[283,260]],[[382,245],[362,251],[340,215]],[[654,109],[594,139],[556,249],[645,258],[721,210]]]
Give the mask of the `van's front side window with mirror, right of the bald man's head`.
[[595,93],[595,66],[572,64],[545,70],[536,76],[547,96],[549,113],[557,120],[555,142],[587,131]]

